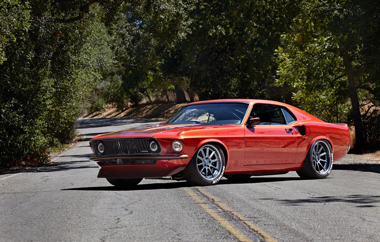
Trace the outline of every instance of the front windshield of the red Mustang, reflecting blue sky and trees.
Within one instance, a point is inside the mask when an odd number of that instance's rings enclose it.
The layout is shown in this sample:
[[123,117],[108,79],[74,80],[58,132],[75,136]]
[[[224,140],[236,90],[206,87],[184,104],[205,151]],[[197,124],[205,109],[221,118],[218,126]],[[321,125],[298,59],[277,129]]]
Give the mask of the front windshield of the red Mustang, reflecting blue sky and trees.
[[248,106],[240,102],[189,105],[166,124],[242,124]]

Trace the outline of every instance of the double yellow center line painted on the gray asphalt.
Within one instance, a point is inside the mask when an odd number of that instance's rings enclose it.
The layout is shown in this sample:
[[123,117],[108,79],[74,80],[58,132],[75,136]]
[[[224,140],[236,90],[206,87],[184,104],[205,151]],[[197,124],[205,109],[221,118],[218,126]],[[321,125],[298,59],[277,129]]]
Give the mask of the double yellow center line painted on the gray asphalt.
[[[238,212],[230,209],[226,204],[219,201],[215,196],[212,196],[210,193],[206,192],[204,189],[200,187],[195,187],[199,193],[204,195],[206,198],[209,198],[213,201],[213,203],[218,206],[222,211],[233,215],[235,218],[237,218],[239,221],[245,223],[245,225],[248,226],[248,228],[255,231],[257,234],[259,234],[266,242],[277,242],[272,236],[270,236],[268,233],[264,232],[258,226],[244,218],[241,214]],[[214,209],[212,209],[207,203],[205,203],[196,193],[194,193],[191,189],[185,187],[185,192],[190,195],[196,203],[198,203],[204,211],[206,211],[208,214],[211,215],[220,225],[222,225],[223,228],[225,228],[229,233],[231,233],[233,236],[235,236],[239,241],[241,242],[253,242],[252,239],[250,239],[246,234],[244,234],[241,230],[236,228],[233,224],[228,222],[225,218],[223,218],[218,212],[216,212]]]

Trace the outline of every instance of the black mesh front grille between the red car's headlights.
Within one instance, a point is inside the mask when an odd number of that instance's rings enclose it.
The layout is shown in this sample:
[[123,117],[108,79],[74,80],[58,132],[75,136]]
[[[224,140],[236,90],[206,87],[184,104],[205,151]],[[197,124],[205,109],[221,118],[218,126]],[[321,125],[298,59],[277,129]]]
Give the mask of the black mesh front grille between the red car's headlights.
[[[124,138],[124,139],[109,139],[100,140],[105,146],[105,151],[102,155],[131,155],[131,154],[158,154],[160,148],[156,152],[149,150],[150,142],[154,141],[150,138]],[[157,142],[157,141],[156,141]]]

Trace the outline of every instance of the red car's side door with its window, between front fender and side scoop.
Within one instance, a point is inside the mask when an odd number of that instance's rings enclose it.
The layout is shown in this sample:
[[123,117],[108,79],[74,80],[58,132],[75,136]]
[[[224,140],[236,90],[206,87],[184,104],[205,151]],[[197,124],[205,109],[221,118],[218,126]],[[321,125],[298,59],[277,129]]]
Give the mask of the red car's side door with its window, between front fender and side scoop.
[[294,115],[281,106],[255,104],[249,116],[260,118],[260,124],[244,128],[244,165],[293,163],[297,149],[291,126]]

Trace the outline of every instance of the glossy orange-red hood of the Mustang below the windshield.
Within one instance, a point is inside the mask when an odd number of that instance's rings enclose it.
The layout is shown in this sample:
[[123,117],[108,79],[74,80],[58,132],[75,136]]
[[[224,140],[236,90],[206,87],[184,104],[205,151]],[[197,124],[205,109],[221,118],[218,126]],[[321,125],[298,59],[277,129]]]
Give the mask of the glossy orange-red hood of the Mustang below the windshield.
[[[236,126],[235,124],[234,126]],[[153,137],[157,134],[165,133],[169,136],[179,136],[182,132],[187,130],[196,129],[217,129],[225,126],[230,126],[230,124],[220,125],[205,125],[205,124],[157,124],[149,126],[140,126],[129,129],[123,129],[120,131],[101,134],[93,137],[93,139],[103,139],[103,138],[127,138],[127,137]]]

